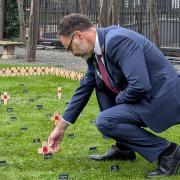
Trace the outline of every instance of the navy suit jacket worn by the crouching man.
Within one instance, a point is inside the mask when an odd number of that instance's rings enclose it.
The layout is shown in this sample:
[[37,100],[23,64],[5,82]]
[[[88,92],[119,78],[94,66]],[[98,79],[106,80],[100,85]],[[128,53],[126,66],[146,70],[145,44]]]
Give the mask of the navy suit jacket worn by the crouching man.
[[[117,26],[97,29],[105,66],[112,86],[121,91],[116,104],[131,104],[144,123],[161,132],[180,122],[180,78],[174,67],[144,36]],[[103,91],[94,58],[63,118],[74,123],[94,88]],[[120,106],[119,106],[120,107]]]

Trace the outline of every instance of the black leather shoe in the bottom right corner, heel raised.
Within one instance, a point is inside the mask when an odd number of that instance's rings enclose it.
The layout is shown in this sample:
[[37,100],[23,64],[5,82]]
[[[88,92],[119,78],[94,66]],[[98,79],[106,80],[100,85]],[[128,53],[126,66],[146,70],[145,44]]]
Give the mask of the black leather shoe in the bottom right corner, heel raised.
[[175,175],[180,165],[180,146],[177,146],[174,152],[169,156],[162,156],[158,160],[156,171],[147,175],[147,178],[164,177]]

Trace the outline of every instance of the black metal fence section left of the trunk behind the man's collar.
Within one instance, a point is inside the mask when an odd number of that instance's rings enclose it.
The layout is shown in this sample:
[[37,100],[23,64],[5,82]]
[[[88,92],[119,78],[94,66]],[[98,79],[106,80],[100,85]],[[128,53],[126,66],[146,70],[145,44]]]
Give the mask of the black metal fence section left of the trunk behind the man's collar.
[[[30,1],[26,0],[26,23],[28,24]],[[99,0],[86,1],[87,15],[96,24]],[[80,13],[79,0],[40,0],[39,40],[57,40],[60,19],[70,13]]]

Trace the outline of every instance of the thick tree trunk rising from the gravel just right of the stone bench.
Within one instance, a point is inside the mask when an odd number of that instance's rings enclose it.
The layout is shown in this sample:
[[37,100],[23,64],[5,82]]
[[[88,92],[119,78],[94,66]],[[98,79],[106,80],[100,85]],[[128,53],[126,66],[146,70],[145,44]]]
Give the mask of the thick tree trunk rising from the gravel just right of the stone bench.
[[39,0],[31,0],[31,12],[29,17],[29,38],[27,42],[27,55],[28,62],[35,61],[36,47],[38,39],[38,26],[39,26]]

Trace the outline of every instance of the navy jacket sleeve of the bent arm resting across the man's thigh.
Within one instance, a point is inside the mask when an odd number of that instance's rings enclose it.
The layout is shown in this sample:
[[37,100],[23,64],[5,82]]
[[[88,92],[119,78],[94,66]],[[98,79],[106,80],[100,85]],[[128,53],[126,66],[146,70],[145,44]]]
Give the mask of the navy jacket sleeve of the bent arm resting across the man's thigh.
[[109,44],[110,57],[127,80],[127,87],[117,95],[116,103],[137,103],[151,89],[143,47],[127,37],[116,37]]

